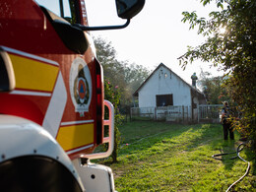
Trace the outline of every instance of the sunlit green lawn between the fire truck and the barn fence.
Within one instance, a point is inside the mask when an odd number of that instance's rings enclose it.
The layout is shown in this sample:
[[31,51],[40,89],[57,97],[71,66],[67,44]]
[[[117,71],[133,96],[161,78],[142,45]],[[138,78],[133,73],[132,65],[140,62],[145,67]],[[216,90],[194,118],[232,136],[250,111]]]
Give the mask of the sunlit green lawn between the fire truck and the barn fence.
[[[235,141],[223,140],[221,125],[135,121],[123,125],[120,132],[118,162],[105,162],[114,172],[119,192],[225,191],[247,168],[239,159],[212,158],[235,151],[239,144],[238,134]],[[255,155],[245,149],[240,156],[252,165],[249,174],[230,191],[256,191]]]

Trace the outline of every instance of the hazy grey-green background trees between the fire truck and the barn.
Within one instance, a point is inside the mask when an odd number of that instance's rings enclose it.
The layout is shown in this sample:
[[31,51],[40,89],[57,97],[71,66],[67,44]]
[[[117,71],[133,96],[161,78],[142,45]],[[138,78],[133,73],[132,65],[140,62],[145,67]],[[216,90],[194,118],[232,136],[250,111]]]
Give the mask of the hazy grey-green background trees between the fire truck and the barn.
[[120,90],[120,107],[131,105],[132,94],[149,76],[149,70],[142,65],[130,64],[116,59],[117,53],[111,42],[95,38],[97,59],[103,67],[104,78]]

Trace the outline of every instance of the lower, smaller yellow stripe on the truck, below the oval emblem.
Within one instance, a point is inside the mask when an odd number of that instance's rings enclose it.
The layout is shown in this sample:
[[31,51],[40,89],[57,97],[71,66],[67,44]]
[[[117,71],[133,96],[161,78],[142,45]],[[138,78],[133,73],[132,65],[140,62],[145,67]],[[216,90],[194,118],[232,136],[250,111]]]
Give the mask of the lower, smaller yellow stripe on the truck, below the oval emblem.
[[56,139],[61,147],[68,151],[92,144],[94,138],[94,124],[84,124],[61,127]]

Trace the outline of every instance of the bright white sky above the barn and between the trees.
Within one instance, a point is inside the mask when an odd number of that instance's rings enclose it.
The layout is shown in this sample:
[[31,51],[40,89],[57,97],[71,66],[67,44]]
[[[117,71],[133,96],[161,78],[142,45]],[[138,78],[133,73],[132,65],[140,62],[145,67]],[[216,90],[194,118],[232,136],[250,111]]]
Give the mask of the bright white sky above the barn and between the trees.
[[[126,21],[116,14],[114,0],[87,0],[87,13],[90,26],[122,25]],[[214,1],[215,2],[215,1]],[[143,10],[131,20],[131,24],[122,30],[91,32],[110,41],[117,51],[117,59],[143,65],[153,71],[160,63],[170,68],[187,83],[191,84],[191,75],[200,76],[203,71],[212,76],[223,75],[211,63],[195,61],[186,69],[179,65],[178,57],[184,54],[187,46],[196,46],[204,42],[204,37],[196,30],[189,31],[189,24],[182,23],[183,11],[196,11],[200,17],[208,17],[216,6],[203,7],[200,0],[146,0]]]

